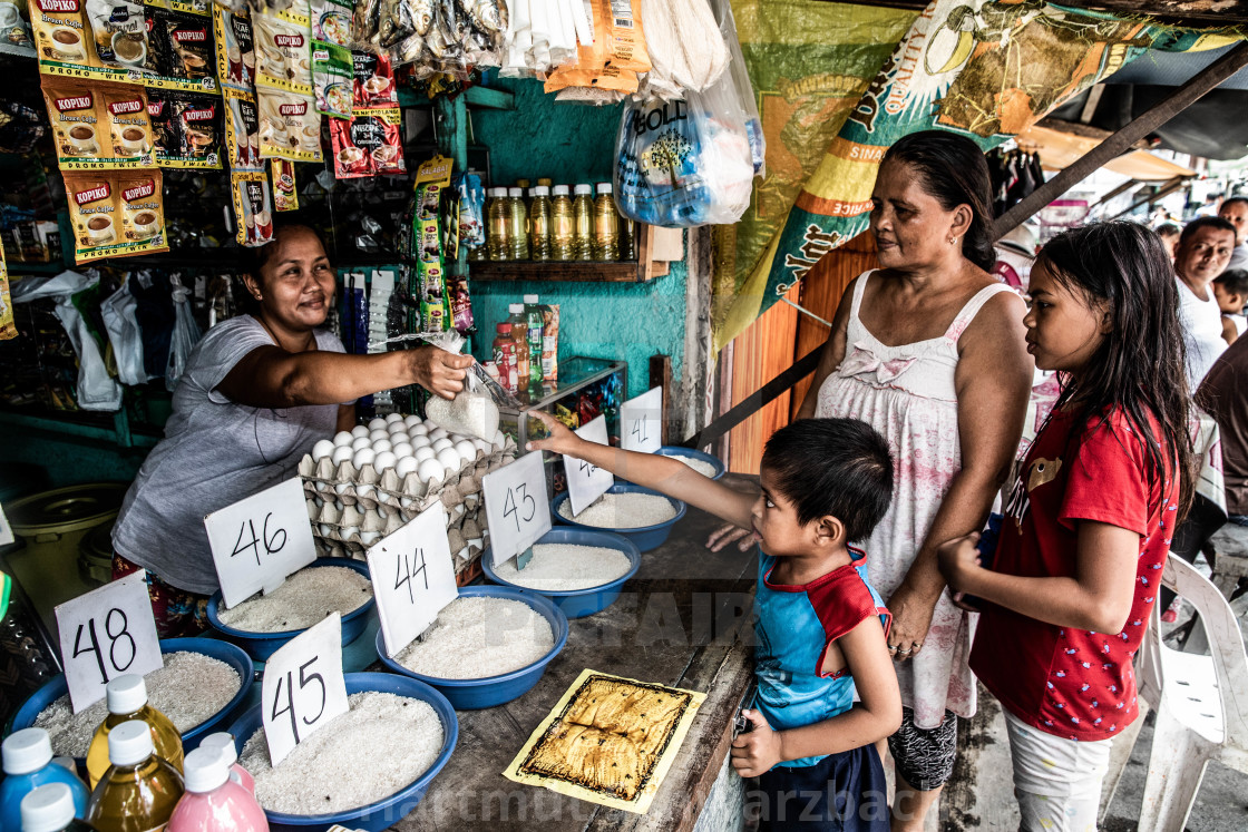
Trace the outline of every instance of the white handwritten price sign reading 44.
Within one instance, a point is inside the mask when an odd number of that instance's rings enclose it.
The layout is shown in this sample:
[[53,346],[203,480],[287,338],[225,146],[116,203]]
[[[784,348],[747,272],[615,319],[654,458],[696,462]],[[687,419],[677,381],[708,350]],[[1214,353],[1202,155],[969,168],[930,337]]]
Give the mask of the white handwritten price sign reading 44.
[[386,655],[394,657],[459,596],[447,543],[447,510],[434,503],[367,553]]

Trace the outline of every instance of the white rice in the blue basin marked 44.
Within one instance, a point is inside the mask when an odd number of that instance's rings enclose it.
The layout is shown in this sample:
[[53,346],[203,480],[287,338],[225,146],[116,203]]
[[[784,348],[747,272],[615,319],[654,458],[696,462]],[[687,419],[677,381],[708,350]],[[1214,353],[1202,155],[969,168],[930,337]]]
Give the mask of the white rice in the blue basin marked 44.
[[550,622],[524,601],[463,596],[394,660],[434,679],[484,679],[527,667],[553,647]]

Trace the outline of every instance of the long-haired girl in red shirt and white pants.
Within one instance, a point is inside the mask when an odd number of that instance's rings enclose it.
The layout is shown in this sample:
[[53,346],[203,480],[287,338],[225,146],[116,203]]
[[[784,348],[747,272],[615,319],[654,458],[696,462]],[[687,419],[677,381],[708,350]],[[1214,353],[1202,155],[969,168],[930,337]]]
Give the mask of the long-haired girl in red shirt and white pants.
[[1062,394],[1018,469],[991,569],[940,549],[981,599],[971,669],[1001,701],[1023,830],[1096,830],[1109,741],[1137,716],[1132,659],[1193,491],[1169,257],[1133,223],[1075,228],[1031,272],[1027,351]]

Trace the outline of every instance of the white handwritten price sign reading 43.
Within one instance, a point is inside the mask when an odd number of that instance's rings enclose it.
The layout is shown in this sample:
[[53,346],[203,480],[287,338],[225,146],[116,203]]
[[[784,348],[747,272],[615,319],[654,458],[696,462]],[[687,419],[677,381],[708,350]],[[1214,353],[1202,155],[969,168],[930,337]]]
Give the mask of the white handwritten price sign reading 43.
[[494,565],[507,563],[550,530],[542,453],[524,454],[480,480]]

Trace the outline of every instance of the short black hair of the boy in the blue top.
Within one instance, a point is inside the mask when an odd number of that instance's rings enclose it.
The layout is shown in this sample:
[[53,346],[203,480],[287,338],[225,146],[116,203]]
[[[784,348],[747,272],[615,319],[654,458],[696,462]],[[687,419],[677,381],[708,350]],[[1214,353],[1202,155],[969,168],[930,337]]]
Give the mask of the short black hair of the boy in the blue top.
[[889,443],[859,419],[801,419],[780,428],[763,450],[776,489],[802,525],[832,515],[846,540],[864,540],[892,501]]

